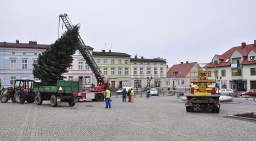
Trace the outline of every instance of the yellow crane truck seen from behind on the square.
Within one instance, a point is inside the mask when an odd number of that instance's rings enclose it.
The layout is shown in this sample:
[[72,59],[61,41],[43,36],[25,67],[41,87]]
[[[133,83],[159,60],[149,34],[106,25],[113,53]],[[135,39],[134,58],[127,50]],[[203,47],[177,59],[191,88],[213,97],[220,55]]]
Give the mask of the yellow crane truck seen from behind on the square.
[[[197,72],[192,71],[192,67],[190,67],[190,74],[197,73],[197,78],[192,78],[190,75],[190,82],[196,86],[193,88],[193,93],[186,96],[186,111],[194,112],[194,108],[209,108],[212,109],[212,113],[219,113],[219,95],[213,92],[213,88],[207,87],[207,85],[216,83],[216,79],[208,79],[207,64],[204,66],[196,64],[196,67]],[[214,75],[216,76],[216,68]],[[214,78],[216,78],[215,76]]]

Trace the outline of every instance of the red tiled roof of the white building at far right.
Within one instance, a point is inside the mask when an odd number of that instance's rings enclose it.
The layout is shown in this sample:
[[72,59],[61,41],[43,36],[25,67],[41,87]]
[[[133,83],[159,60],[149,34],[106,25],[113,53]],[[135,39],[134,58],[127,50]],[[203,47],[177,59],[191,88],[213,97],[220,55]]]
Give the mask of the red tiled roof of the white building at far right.
[[[242,56],[246,57],[251,50],[256,52],[256,47],[254,46],[254,44],[248,44],[248,45],[244,46],[244,48],[242,48],[242,46],[235,46],[235,47],[229,49],[227,52],[225,52],[222,55],[216,55],[219,58],[219,60],[221,60],[221,62],[216,66],[217,67],[218,66],[230,66],[231,65],[230,56],[233,54],[233,52],[235,50],[237,50],[239,53],[241,53]],[[255,63],[256,63],[256,61],[249,62],[249,61],[247,61],[247,58],[245,58],[241,64],[255,64]],[[209,63],[208,67],[214,67],[213,61]]]

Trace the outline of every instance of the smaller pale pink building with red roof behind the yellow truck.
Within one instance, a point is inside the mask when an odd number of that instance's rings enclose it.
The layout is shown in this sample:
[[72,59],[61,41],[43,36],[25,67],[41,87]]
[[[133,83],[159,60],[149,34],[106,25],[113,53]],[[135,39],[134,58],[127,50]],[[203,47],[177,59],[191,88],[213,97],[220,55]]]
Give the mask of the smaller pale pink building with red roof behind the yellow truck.
[[197,73],[193,72],[197,72],[197,62],[188,63],[186,61],[186,63],[181,62],[181,64],[173,65],[166,73],[168,87],[188,89],[191,85],[190,78],[197,78]]

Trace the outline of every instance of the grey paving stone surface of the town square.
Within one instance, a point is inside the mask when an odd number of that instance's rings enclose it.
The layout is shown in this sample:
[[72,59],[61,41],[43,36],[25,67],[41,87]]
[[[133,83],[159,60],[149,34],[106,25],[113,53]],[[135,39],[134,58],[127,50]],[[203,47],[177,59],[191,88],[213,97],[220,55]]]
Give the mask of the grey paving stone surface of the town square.
[[0,140],[256,140],[256,122],[226,117],[256,112],[256,102],[233,99],[243,102],[221,104],[220,113],[188,113],[176,96],[137,96],[134,103],[113,97],[112,109],[104,101],[56,108],[8,101],[0,103]]

